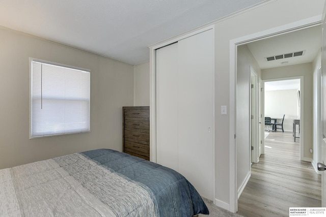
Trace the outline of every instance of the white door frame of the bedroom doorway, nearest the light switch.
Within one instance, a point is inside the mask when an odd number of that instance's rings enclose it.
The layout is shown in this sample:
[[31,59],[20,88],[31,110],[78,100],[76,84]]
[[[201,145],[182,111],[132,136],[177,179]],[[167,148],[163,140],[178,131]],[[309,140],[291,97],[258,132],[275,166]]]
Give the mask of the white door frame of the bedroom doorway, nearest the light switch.
[[236,64],[237,64],[237,46],[248,44],[250,42],[283,35],[320,25],[321,16],[314,16],[304,20],[299,20],[286,25],[263,30],[262,32],[243,36],[230,40],[230,126],[229,126],[229,171],[230,171],[230,211],[237,212],[238,195],[237,195],[237,167],[236,167]]

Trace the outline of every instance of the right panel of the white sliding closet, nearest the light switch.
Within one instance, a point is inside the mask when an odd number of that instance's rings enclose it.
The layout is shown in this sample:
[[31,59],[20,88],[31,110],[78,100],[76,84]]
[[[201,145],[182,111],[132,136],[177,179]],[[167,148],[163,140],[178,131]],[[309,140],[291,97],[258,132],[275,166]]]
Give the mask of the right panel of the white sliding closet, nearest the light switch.
[[[179,45],[179,172],[213,200],[213,33]],[[196,172],[195,172],[196,171]]]

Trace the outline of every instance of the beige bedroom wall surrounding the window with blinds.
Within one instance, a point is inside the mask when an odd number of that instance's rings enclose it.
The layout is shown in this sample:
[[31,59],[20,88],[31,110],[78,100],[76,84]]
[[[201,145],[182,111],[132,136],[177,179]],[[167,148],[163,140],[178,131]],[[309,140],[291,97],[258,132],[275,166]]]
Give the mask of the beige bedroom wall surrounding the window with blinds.
[[[0,28],[0,169],[95,148],[122,151],[133,66]],[[29,139],[29,57],[91,70],[91,132]]]

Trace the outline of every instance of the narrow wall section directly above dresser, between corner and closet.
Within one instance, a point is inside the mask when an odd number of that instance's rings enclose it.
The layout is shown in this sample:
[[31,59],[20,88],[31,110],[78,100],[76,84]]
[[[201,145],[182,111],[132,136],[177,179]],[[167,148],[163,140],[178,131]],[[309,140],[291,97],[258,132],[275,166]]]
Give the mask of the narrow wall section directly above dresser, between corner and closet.
[[134,66],[134,106],[149,106],[149,63]]

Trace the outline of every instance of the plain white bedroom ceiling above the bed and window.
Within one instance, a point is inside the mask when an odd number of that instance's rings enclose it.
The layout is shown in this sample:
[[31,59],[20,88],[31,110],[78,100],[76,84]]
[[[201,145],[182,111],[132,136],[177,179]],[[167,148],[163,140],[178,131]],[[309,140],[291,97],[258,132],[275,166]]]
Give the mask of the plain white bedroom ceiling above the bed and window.
[[264,0],[2,0],[0,26],[131,65],[148,46]]

